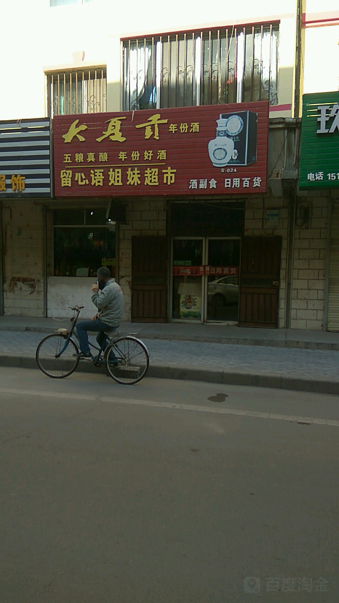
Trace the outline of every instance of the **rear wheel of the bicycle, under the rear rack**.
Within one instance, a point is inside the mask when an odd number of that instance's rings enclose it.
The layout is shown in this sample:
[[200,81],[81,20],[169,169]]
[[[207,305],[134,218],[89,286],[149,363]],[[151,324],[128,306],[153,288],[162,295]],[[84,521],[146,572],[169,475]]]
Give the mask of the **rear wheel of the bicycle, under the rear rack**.
[[112,379],[122,385],[133,385],[147,373],[150,356],[140,339],[126,336],[106,348],[105,361]]

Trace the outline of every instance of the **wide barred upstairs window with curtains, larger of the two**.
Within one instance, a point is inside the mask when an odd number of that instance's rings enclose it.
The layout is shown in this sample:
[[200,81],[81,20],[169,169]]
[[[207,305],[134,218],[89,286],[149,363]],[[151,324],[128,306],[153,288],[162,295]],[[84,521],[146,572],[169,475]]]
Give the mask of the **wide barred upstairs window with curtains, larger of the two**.
[[278,42],[272,24],[124,40],[123,109],[276,105]]

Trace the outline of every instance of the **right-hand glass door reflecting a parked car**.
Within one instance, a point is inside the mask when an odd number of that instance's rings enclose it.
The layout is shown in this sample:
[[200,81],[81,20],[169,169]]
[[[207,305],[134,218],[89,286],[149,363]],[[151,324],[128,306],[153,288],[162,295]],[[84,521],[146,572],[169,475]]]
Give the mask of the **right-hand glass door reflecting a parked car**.
[[207,239],[206,320],[238,322],[240,239]]

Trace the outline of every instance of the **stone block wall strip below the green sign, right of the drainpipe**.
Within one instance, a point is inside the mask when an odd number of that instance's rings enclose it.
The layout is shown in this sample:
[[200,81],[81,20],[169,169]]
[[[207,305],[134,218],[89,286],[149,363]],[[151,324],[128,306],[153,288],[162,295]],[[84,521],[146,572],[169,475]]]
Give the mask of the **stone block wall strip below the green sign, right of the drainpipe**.
[[[306,223],[303,207],[309,212]],[[293,252],[291,329],[322,329],[328,200],[298,200]]]

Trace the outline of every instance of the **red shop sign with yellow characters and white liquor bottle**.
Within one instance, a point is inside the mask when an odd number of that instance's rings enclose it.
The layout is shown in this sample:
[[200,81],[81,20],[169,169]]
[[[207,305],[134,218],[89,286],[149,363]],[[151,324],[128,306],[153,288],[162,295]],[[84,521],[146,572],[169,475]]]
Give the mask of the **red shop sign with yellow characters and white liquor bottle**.
[[55,196],[262,194],[267,140],[267,101],[55,116]]

